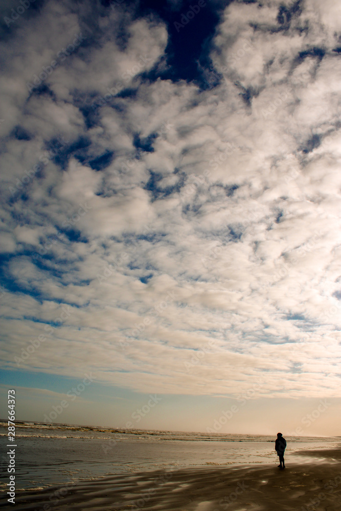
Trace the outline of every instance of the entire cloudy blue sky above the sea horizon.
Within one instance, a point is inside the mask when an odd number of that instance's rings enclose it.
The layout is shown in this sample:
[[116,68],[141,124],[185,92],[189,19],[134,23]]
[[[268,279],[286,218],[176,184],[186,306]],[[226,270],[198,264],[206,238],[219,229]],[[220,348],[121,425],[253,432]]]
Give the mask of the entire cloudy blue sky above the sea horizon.
[[2,409],[339,435],[338,0],[0,10]]

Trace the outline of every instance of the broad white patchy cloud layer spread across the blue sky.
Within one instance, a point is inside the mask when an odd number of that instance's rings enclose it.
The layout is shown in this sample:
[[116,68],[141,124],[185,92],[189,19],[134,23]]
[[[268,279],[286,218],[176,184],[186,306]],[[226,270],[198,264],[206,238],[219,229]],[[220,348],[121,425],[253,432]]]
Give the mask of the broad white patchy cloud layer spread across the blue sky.
[[[3,115],[13,121],[2,128],[9,135],[19,125],[32,138],[7,139],[2,156],[14,202],[2,212],[2,246],[16,254],[4,266],[14,286],[4,311],[9,367],[52,323],[51,337],[21,367],[65,376],[94,369],[102,382],[189,394],[235,395],[262,374],[264,396],[279,379],[286,397],[339,395],[336,7],[308,2],[275,32],[279,5],[225,9],[211,53],[223,76],[203,91],[142,79],[163,56],[165,26],[112,13],[98,43],[51,74],[52,94],[28,98],[29,63],[48,63],[65,44],[60,30],[81,22],[50,2],[20,28],[7,50],[11,58],[22,49],[7,72],[16,85],[5,89]],[[34,38],[37,20],[56,12],[51,33]],[[111,22],[125,22],[125,47]],[[318,44],[321,61],[299,58]],[[148,60],[139,67],[140,55]],[[88,127],[79,98],[104,95],[130,69],[134,94],[110,98]],[[74,155],[63,168],[50,159],[23,187],[25,200],[13,197],[8,188],[58,135]],[[90,162],[106,152],[112,161],[97,171]],[[32,260],[28,246],[49,257]],[[63,307],[71,312],[56,327]],[[214,349],[188,371],[185,362],[210,341]]]

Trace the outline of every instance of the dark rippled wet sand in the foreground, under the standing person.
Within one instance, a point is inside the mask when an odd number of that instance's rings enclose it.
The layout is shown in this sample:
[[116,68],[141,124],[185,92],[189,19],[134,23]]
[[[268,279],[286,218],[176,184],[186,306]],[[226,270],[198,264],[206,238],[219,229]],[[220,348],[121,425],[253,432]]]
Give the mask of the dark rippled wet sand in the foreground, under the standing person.
[[[208,465],[17,491],[15,506],[20,511],[336,511],[341,509],[340,451],[310,451],[317,453],[320,463],[289,462],[285,470],[275,464]],[[14,508],[7,498],[2,503],[4,509]]]

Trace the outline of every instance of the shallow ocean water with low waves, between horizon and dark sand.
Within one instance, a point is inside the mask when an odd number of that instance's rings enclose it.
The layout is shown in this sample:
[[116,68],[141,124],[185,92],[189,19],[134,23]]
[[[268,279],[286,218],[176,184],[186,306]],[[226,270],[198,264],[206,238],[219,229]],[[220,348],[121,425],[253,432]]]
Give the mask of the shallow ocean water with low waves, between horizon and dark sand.
[[[277,465],[275,435],[145,431],[96,426],[17,422],[17,489],[39,489],[80,480],[156,469]],[[313,463],[301,451],[339,448],[339,437],[286,436],[286,464]],[[7,423],[0,422],[1,486],[8,482]],[[318,456],[316,460],[323,461]],[[330,460],[329,460],[330,462]]]

